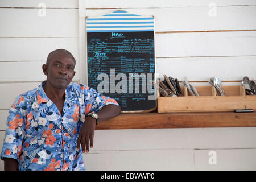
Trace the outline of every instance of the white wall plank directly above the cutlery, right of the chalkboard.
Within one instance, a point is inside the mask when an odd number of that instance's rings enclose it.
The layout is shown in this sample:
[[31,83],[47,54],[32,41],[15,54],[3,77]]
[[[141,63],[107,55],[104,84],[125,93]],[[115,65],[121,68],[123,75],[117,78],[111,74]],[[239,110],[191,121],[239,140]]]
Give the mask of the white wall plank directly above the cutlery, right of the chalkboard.
[[248,76],[256,79],[256,56],[246,57],[183,57],[157,58],[156,73],[183,80],[184,76],[191,81],[209,81],[210,77],[222,80],[242,80]]

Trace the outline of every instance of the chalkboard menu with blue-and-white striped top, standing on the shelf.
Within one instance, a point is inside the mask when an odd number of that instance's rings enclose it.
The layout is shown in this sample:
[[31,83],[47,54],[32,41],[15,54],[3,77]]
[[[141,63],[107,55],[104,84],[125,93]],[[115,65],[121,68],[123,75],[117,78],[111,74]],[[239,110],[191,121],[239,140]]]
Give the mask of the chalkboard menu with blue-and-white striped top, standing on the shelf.
[[156,96],[154,18],[113,11],[86,18],[88,86],[122,112],[151,111]]

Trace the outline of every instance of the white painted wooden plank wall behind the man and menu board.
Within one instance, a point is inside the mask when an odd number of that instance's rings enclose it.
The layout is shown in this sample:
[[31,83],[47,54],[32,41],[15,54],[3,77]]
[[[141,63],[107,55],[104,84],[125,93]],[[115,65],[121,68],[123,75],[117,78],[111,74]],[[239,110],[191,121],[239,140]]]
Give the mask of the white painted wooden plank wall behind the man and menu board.
[[[40,3],[46,16],[39,16]],[[209,8],[210,3],[216,5]],[[77,60],[73,81],[86,84],[85,16],[122,9],[154,15],[156,72],[194,85],[221,77],[224,85],[256,78],[255,0],[0,1],[0,147],[18,94],[33,89],[49,52],[68,49]],[[209,15],[210,13],[210,15]],[[200,82],[197,82],[200,81]],[[203,81],[203,82],[202,82]],[[88,170],[256,169],[256,128],[97,130],[85,154]],[[215,151],[217,164],[210,165]],[[3,162],[0,162],[0,170]]]

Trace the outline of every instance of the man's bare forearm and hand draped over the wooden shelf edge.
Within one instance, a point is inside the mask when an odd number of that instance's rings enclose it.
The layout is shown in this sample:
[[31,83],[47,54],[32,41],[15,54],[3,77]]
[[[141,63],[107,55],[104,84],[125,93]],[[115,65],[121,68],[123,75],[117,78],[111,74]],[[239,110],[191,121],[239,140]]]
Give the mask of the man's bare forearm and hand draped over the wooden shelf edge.
[[[109,120],[121,113],[121,107],[109,104],[104,107],[100,111],[98,111],[98,122]],[[84,123],[82,124],[79,138],[77,139],[77,150],[80,149],[80,144],[82,146],[82,152],[89,152],[89,144],[90,148],[93,147],[93,137],[94,137],[94,130],[96,127],[96,119],[92,117],[86,117]]]

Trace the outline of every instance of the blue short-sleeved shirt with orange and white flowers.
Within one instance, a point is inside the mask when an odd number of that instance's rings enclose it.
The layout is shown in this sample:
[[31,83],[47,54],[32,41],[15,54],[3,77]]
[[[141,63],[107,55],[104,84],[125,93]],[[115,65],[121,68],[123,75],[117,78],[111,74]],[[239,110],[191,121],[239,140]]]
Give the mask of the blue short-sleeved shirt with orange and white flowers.
[[62,114],[46,96],[42,82],[21,94],[9,111],[1,159],[18,160],[19,170],[85,170],[76,143],[82,123],[101,107],[118,103],[80,83],[65,90]]

